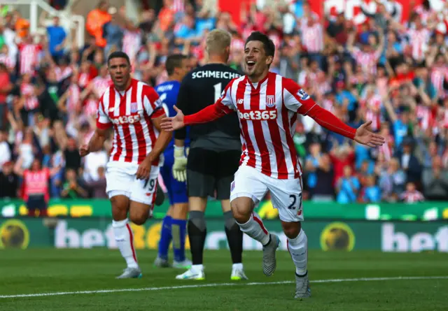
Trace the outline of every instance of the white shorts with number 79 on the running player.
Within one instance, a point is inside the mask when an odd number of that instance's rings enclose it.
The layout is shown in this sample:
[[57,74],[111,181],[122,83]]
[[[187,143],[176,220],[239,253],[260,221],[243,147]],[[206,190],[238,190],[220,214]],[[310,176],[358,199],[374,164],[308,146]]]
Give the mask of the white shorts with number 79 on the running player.
[[[111,164],[111,162],[109,162]],[[153,205],[157,194],[159,166],[151,166],[148,180],[138,180],[134,167],[107,166],[106,193],[112,196],[127,196],[131,201]]]

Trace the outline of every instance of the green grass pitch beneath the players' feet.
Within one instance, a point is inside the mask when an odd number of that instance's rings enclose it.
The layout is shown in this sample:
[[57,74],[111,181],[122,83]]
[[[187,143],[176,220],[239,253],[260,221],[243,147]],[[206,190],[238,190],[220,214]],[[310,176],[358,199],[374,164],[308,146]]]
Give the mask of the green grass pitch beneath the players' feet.
[[[248,281],[230,281],[230,254],[205,251],[205,281],[174,280],[183,270],[153,268],[155,252],[138,252],[144,277],[115,280],[125,268],[118,250],[28,249],[0,252],[0,310],[448,310],[448,254],[309,252],[312,297],[293,298],[294,267],[288,252],[277,252],[277,270],[265,277],[261,252],[244,252]],[[446,278],[430,279],[431,276]],[[419,277],[412,280],[334,279]],[[321,282],[322,281],[322,282]],[[248,284],[248,283],[265,284]],[[266,284],[266,283],[273,284]],[[218,284],[227,284],[219,286]],[[229,284],[233,283],[235,285]],[[209,287],[170,288],[182,285]],[[162,289],[154,290],[153,288]],[[141,291],[113,291],[144,289]],[[76,291],[111,290],[75,294]],[[56,296],[20,296],[66,292]]]

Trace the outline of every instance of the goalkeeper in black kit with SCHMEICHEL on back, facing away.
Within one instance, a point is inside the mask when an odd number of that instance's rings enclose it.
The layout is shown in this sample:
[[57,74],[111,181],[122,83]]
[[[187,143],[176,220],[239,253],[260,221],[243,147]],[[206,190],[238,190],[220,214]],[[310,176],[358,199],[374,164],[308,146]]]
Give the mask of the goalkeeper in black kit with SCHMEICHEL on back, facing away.
[[[195,68],[183,78],[176,106],[186,115],[197,113],[213,105],[230,80],[239,78],[238,71],[227,66],[230,52],[230,34],[215,29],[207,35],[208,64]],[[190,126],[190,152],[188,164],[181,149],[186,130],[174,133],[176,154],[173,175],[187,180],[188,186],[188,239],[193,266],[176,278],[179,280],[203,280],[202,254],[207,226],[204,212],[207,198],[221,201],[230,254],[232,257],[232,280],[246,279],[241,263],[243,233],[230,210],[230,184],[238,169],[241,157],[239,120],[236,114],[227,115],[215,122]],[[180,149],[179,149],[180,148]],[[185,166],[186,164],[186,166]]]

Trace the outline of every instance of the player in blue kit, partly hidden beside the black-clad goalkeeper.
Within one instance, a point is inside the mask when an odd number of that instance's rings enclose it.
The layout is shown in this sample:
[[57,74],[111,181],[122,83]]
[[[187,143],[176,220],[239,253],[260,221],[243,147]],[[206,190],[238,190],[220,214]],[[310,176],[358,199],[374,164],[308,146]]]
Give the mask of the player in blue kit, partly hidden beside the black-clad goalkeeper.
[[[177,94],[183,77],[190,71],[188,58],[185,55],[175,54],[167,57],[165,68],[168,73],[168,81],[157,87],[160,99],[163,102],[165,113],[169,116],[176,115],[173,106],[176,105]],[[186,141],[186,146],[187,141]],[[170,267],[168,261],[169,244],[173,242],[174,268],[190,268],[191,261],[185,256],[186,219],[188,215],[188,196],[186,184],[185,166],[187,163],[184,149],[176,149],[174,138],[164,152],[165,162],[160,173],[168,190],[169,210],[162,222],[162,230],[159,240],[158,256],[154,265],[166,268]],[[176,161],[175,161],[176,160]],[[181,165],[181,169],[176,166]],[[174,175],[176,178],[174,178]],[[179,180],[183,180],[182,182]]]

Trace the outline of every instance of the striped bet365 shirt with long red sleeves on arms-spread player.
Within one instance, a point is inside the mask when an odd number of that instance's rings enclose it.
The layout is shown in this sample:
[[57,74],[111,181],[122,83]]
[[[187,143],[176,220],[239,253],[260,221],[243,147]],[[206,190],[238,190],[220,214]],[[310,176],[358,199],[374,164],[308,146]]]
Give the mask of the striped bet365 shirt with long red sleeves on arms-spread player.
[[253,84],[246,75],[233,79],[214,105],[184,117],[186,125],[210,122],[233,111],[241,128],[241,166],[277,179],[302,175],[293,142],[297,113],[309,115],[319,125],[351,139],[356,130],[311,99],[293,80],[269,72]]

